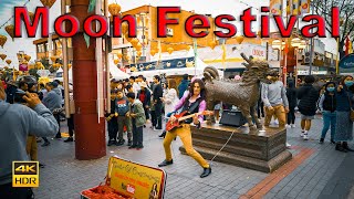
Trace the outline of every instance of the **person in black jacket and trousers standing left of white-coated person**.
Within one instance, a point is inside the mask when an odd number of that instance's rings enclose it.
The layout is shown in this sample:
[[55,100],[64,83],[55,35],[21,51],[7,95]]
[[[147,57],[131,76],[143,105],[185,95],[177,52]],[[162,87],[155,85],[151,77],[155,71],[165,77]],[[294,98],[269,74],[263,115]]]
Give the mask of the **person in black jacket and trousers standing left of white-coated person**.
[[155,115],[156,115],[156,121],[157,121],[157,125],[156,125],[156,129],[163,129],[163,118],[162,118],[162,114],[163,114],[163,101],[162,97],[164,95],[163,92],[163,86],[160,84],[160,77],[158,75],[155,75],[154,78],[154,92],[153,92],[153,100],[154,100],[154,105],[155,105]]

